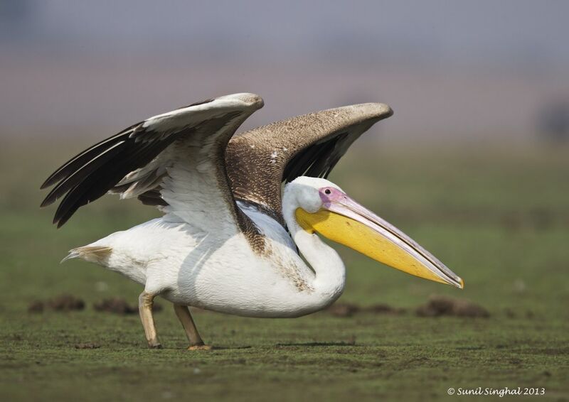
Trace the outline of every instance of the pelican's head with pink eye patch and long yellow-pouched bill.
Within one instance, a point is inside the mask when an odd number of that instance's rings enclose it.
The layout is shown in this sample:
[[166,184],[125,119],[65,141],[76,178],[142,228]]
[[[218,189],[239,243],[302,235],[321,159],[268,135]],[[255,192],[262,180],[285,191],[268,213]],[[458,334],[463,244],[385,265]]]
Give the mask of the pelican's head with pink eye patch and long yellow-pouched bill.
[[305,231],[317,232],[411,275],[464,287],[464,281],[429,251],[352,200],[334,183],[301,176],[287,184],[285,193],[294,194],[294,216]]

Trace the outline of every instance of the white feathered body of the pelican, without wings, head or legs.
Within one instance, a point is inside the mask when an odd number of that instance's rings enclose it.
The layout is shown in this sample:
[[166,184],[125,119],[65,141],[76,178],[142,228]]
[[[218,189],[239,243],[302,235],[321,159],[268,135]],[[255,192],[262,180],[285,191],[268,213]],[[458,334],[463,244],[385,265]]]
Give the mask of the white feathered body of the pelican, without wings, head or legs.
[[[321,310],[344,290],[345,269],[334,249],[321,243],[317,275],[297,254],[290,235],[265,215],[249,212],[265,234],[258,255],[239,232],[219,234],[166,215],[90,246],[112,251],[98,264],[140,283],[149,293],[181,305],[247,317],[298,317]],[[260,218],[260,219],[259,219]],[[256,219],[256,220],[255,220]],[[270,251],[269,251],[270,250]]]

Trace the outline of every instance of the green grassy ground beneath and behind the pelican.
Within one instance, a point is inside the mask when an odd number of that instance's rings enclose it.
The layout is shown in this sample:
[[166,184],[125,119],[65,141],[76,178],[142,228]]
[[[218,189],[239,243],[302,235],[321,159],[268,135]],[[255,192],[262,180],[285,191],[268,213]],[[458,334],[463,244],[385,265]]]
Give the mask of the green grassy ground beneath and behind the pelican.
[[[84,144],[83,144],[84,145]],[[27,148],[28,152],[24,152]],[[169,303],[156,314],[165,349],[145,348],[137,315],[100,313],[139,287],[100,267],[58,261],[156,214],[100,200],[58,231],[36,190],[72,150],[4,143],[0,150],[0,399],[378,400],[449,398],[447,389],[544,387],[569,398],[568,149],[384,146],[351,153],[331,177],[466,281],[457,290],[338,246],[348,267],[341,302],[406,313],[321,312],[258,320],[198,311],[211,352],[188,352]],[[83,311],[28,313],[70,293]],[[467,298],[489,318],[418,317],[432,294]],[[96,344],[96,349],[78,349]],[[457,398],[457,396],[452,397]]]

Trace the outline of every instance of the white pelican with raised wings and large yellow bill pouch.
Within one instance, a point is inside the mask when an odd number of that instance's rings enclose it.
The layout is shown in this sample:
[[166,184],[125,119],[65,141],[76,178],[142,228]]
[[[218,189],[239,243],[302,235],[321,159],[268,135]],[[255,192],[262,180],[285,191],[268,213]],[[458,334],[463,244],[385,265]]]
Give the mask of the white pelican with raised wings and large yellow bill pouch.
[[[188,306],[245,317],[299,317],[339,298],[346,269],[319,235],[406,273],[462,288],[435,256],[326,180],[363,132],[393,112],[354,104],[234,136],[264,102],[230,94],[158,114],[70,159],[41,188],[63,197],[53,223],[105,193],[137,197],[163,216],[70,250],[142,285],[139,313],[159,348],[160,295],[188,337],[208,349]],[[63,262],[62,261],[62,262]]]

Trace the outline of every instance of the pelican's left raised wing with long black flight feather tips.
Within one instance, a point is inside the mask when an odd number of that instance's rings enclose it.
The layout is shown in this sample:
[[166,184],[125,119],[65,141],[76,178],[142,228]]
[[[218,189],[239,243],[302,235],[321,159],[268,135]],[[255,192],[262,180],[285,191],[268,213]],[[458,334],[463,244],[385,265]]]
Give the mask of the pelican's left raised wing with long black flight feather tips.
[[[263,106],[255,94],[233,94],[159,114],[88,148],[50,175],[42,202],[60,197],[53,223],[105,195],[139,197],[188,219],[188,212],[230,210],[235,200],[225,172],[225,147],[235,130]],[[219,210],[218,210],[219,212]]]

